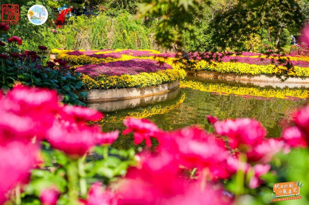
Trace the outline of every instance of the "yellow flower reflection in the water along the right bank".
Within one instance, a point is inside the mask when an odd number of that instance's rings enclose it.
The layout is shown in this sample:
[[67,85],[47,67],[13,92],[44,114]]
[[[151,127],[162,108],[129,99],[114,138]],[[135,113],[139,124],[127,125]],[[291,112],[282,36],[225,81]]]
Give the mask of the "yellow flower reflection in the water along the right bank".
[[240,87],[229,86],[226,84],[203,84],[202,82],[192,80],[180,81],[180,87],[189,87],[196,90],[214,92],[223,95],[235,94],[235,95],[252,95],[256,97],[264,98],[282,98],[291,99],[294,98],[308,98],[308,90],[301,89],[273,89],[273,88],[256,88],[256,87]]

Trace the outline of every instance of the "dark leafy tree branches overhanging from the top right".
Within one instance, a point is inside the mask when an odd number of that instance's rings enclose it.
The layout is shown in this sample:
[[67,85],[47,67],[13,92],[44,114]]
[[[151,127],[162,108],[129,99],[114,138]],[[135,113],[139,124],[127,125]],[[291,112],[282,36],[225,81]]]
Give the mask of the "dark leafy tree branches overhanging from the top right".
[[[282,28],[295,25],[300,29],[303,23],[301,9],[294,0],[227,1],[227,6],[219,6],[219,9],[214,9],[214,4],[220,5],[219,1],[211,0],[146,0],[139,6],[138,16],[161,17],[155,33],[156,41],[167,48],[176,44],[179,50],[183,48],[184,32],[191,31],[186,25],[193,24],[196,19],[201,21],[203,14],[198,11],[203,5],[211,11],[205,33],[211,34],[214,51],[226,51],[227,48],[243,51],[244,42],[251,38],[251,34],[259,34],[263,27],[276,30],[275,44],[278,46]],[[281,50],[280,46],[277,48]]]

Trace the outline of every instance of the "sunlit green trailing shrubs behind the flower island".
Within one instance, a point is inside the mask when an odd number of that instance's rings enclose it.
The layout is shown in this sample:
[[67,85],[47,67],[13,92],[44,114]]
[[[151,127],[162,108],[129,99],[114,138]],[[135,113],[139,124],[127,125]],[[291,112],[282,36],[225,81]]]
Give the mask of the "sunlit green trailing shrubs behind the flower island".
[[[150,49],[148,29],[142,20],[133,20],[131,14],[120,12],[115,17],[100,14],[95,19],[85,16],[72,17],[73,25],[49,31],[50,49]],[[59,45],[60,44],[60,45]],[[62,45],[62,46],[61,46]]]

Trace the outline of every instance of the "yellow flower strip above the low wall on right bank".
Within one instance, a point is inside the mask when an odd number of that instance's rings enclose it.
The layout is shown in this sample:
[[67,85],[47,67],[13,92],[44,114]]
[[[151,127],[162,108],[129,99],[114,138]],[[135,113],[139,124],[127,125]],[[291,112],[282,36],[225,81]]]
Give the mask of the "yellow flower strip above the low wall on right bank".
[[196,61],[191,70],[211,70],[219,73],[237,73],[252,75],[276,75],[288,71],[289,76],[309,77],[307,67],[294,66],[293,69],[287,70],[285,66],[275,65],[255,65],[240,62],[206,62],[204,60]]

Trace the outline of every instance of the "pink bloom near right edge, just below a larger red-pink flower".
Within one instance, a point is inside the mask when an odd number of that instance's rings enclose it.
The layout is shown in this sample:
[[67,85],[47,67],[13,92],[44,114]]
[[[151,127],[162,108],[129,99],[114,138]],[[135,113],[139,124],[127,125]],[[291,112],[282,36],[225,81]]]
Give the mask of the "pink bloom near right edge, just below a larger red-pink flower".
[[296,126],[285,129],[282,132],[282,139],[291,147],[308,147],[305,133]]

